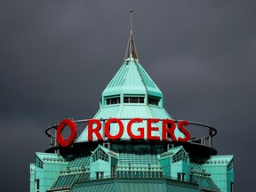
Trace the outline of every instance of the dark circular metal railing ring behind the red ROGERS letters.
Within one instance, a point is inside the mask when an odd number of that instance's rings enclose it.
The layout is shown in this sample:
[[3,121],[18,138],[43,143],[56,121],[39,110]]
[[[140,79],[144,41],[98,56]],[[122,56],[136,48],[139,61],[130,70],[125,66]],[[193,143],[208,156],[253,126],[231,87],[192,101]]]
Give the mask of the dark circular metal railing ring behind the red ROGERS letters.
[[[96,119],[96,120],[99,120],[101,122],[101,124],[105,124],[105,122],[108,121],[109,119],[110,118],[100,118],[100,119]],[[127,121],[127,120],[131,120],[131,119],[132,118],[119,118],[119,120],[122,120],[122,121],[125,121],[125,120]],[[149,118],[140,118],[140,119],[148,120]],[[82,128],[82,129],[84,129],[84,127],[85,127],[85,129],[86,129],[86,126],[87,126],[87,123],[89,120],[91,120],[91,119],[82,119],[82,120],[73,120],[73,121],[77,127],[79,124],[86,124]],[[160,121],[163,121],[163,120],[164,119],[160,119]],[[172,120],[175,123],[184,121],[184,120],[178,120],[178,119],[170,119],[170,120]],[[189,123],[189,125],[196,126],[196,128],[200,128],[200,129],[203,128],[204,130],[206,129],[208,131],[207,135],[204,135],[201,137],[193,137],[193,138],[190,138],[190,140],[188,140],[188,141],[212,147],[212,138],[217,134],[217,130],[208,124],[201,124],[201,123],[197,123],[197,122],[193,122],[193,121],[188,121],[188,123]],[[50,127],[48,127],[45,130],[45,134],[51,138],[51,146],[52,147],[58,146],[57,141],[56,141],[56,129],[58,126],[59,126],[59,124],[52,124]],[[82,132],[83,132],[83,130],[82,130]],[[78,133],[79,133],[79,131],[78,131]],[[106,140],[108,140],[108,139],[106,139]],[[122,138],[121,138],[121,140],[122,140]],[[127,139],[123,139],[123,140],[127,140]],[[170,141],[172,141],[172,140],[170,140]],[[75,143],[76,143],[76,141],[75,141]]]

